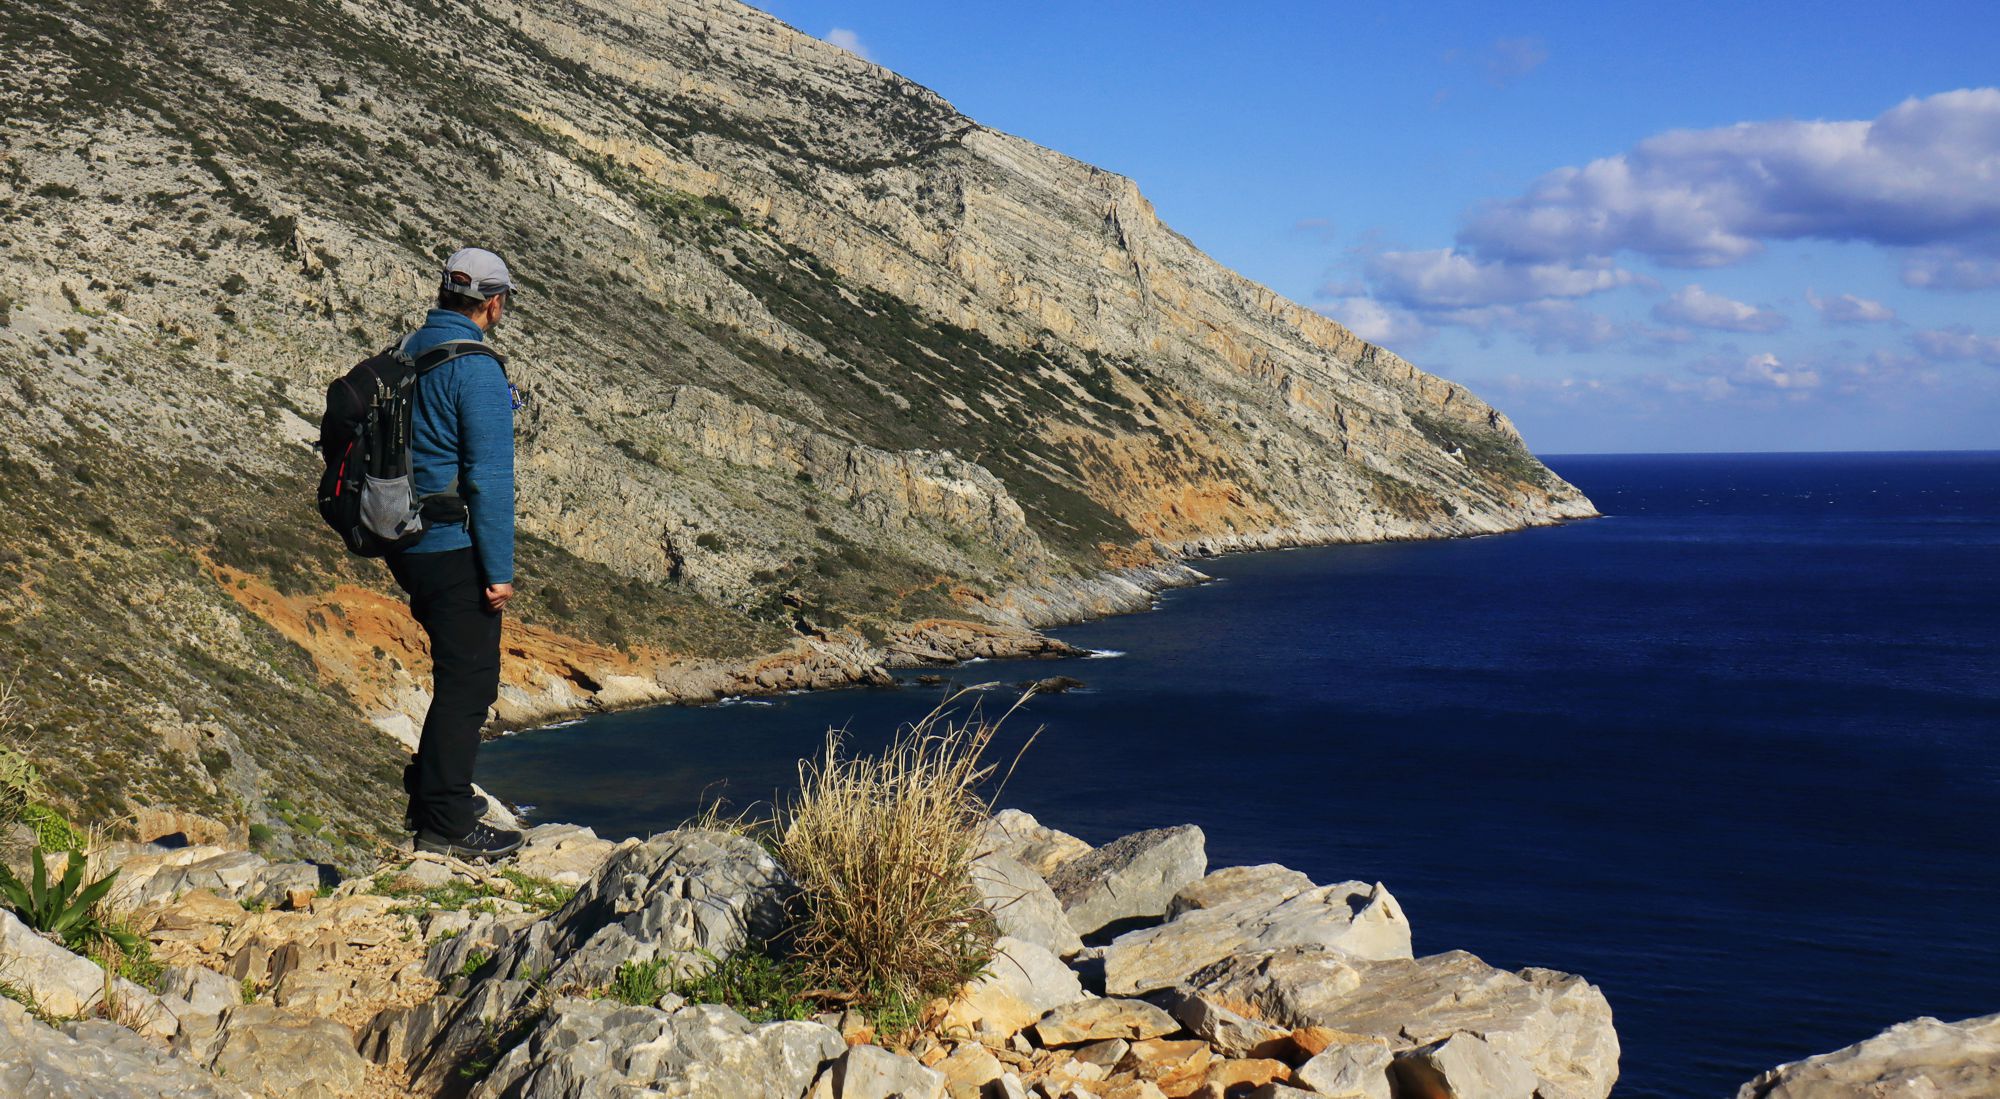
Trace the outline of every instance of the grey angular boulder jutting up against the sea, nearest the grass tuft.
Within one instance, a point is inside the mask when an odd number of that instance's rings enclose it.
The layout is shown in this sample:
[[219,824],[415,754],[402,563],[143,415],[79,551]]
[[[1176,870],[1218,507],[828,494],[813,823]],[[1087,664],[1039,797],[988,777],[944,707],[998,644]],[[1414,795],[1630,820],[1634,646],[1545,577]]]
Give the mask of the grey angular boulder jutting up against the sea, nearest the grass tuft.
[[1208,849],[1196,825],[1138,831],[1048,875],[1048,887],[1078,935],[1120,919],[1166,915],[1174,895],[1208,873]]

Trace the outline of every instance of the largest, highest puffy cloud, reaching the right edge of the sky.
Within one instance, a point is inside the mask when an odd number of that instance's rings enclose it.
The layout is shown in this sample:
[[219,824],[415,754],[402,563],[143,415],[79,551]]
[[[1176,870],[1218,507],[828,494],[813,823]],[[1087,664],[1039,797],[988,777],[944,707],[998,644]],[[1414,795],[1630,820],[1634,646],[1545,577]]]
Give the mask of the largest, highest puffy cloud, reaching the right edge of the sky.
[[1638,252],[1712,268],[1758,254],[1766,240],[1858,240],[1946,248],[1944,258],[1906,272],[1912,286],[1994,284],[1996,180],[2000,88],[1970,88],[1904,100],[1872,120],[1660,134],[1486,204],[1460,232],[1460,246],[1510,264]]

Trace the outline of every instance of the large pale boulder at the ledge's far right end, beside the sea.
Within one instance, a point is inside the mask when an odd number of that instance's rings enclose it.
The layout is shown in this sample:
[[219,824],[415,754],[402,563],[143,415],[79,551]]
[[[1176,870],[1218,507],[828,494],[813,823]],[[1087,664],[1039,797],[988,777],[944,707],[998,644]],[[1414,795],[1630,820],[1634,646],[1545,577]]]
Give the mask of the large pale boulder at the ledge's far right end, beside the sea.
[[1610,1003],[1552,969],[1508,973],[1464,951],[1368,961],[1304,945],[1230,957],[1192,985],[1278,1025],[1374,1035],[1398,1053],[1472,1031],[1526,1061],[1544,1099],[1604,1099],[1618,1081]]

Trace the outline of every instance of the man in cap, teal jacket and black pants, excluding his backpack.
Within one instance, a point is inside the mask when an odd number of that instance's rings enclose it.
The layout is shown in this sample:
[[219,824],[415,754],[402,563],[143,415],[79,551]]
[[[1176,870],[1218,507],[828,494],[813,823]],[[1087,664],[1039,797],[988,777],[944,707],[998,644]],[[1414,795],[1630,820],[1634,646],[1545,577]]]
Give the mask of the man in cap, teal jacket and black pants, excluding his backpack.
[[[438,308],[404,346],[410,356],[446,340],[484,340],[514,294],[500,256],[464,248],[444,264]],[[388,555],[410,613],[430,635],[432,695],[416,759],[404,769],[406,827],[416,849],[498,859],[520,833],[488,827],[472,793],[480,725],[500,693],[500,611],[514,597],[514,390],[500,360],[460,356],[418,378],[410,464],[418,498],[456,496],[410,548]]]

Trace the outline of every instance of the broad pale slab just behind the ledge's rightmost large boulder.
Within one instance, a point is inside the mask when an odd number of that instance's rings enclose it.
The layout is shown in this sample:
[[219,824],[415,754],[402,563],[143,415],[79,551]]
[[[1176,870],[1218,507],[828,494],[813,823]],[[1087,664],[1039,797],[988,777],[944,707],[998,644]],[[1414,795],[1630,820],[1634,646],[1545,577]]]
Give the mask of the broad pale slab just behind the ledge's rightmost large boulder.
[[[1176,903],[1224,873],[1184,889]],[[1158,927],[1114,939],[1104,949],[1104,991],[1166,989],[1234,953],[1276,947],[1326,945],[1366,959],[1410,957],[1410,919],[1380,881],[1312,885],[1302,873],[1284,871],[1246,875],[1232,885],[1208,889],[1202,897],[1208,907],[1188,907]]]

